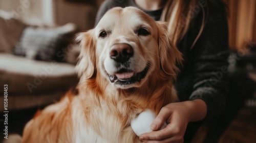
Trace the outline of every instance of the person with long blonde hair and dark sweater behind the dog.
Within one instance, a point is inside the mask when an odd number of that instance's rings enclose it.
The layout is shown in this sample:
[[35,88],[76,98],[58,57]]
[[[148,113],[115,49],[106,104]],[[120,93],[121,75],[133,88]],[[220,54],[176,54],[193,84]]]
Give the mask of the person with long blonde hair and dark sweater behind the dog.
[[[228,27],[220,0],[106,0],[97,25],[113,7],[134,6],[155,20],[166,21],[169,37],[183,54],[175,87],[180,102],[164,106],[143,142],[190,142],[199,125],[211,123],[225,108],[228,94]],[[164,122],[168,125],[158,130]],[[194,123],[191,123],[194,122]],[[191,126],[190,126],[191,125]]]

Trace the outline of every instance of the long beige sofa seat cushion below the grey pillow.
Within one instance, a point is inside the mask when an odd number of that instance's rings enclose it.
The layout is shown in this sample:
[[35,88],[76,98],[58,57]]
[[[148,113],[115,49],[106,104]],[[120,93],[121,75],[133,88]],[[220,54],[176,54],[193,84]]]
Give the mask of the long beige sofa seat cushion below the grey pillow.
[[68,91],[78,83],[72,64],[35,61],[5,53],[0,53],[0,61],[0,85],[8,84],[12,94]]

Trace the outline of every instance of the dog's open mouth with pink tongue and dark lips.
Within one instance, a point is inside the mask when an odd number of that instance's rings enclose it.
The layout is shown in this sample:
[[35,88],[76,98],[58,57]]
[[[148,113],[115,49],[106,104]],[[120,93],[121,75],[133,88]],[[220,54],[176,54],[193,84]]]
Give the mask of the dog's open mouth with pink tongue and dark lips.
[[121,69],[115,75],[109,74],[109,79],[116,85],[134,84],[136,82],[140,82],[141,79],[146,77],[148,68],[149,65],[147,64],[147,66],[139,73],[135,73],[134,71],[129,71],[127,69]]

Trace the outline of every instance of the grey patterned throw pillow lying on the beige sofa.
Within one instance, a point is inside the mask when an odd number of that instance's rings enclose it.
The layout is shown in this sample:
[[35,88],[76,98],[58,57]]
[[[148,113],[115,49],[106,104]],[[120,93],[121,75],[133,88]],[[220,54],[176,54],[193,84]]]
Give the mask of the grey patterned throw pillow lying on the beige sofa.
[[27,27],[13,54],[36,60],[60,61],[61,57],[57,56],[57,52],[67,47],[75,30],[72,23],[57,28]]

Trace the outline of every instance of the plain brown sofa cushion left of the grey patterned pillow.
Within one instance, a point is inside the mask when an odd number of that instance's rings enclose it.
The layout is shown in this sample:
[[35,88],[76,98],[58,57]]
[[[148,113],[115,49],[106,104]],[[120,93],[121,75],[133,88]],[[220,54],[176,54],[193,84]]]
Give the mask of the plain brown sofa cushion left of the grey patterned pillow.
[[10,18],[10,14],[0,10],[0,53],[11,53],[26,27],[23,22]]

